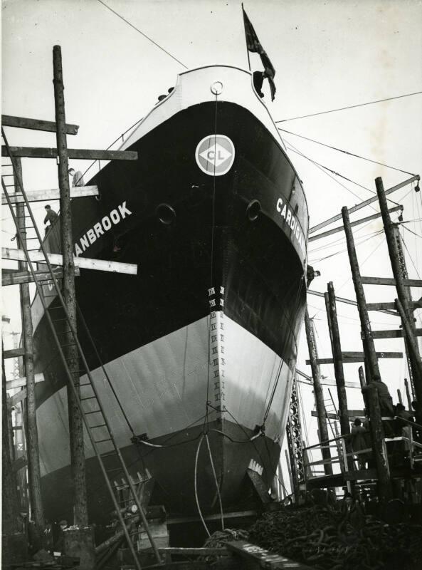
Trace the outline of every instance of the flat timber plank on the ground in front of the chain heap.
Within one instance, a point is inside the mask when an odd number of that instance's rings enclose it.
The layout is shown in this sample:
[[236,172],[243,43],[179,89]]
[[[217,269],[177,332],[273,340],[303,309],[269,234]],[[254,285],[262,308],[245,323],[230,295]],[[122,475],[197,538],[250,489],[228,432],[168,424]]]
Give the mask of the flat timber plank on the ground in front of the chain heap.
[[287,570],[295,568],[297,570],[311,570],[310,566],[302,564],[301,562],[292,561],[286,556],[274,554],[243,540],[230,541],[226,543],[226,548],[233,552],[236,556],[246,559],[246,566],[248,569],[261,569],[268,570]]

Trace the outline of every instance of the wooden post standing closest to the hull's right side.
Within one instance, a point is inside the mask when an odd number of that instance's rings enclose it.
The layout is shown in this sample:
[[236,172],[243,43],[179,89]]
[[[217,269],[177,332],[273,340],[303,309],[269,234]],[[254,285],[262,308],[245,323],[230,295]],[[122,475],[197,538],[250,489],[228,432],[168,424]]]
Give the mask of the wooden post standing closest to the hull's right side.
[[[317,347],[315,344],[315,334],[312,326],[310,316],[305,311],[305,330],[307,338],[307,348],[309,350],[311,370],[312,370],[312,380],[314,383],[314,395],[315,395],[315,405],[318,414],[318,428],[320,434],[320,441],[329,440],[327,418],[325,417],[325,405],[324,405],[324,395],[322,393],[321,386],[321,375],[320,368],[317,365]],[[331,459],[331,454],[329,452],[329,447],[322,447],[322,458],[324,460]],[[330,463],[324,464],[325,475],[332,475],[332,465]]]

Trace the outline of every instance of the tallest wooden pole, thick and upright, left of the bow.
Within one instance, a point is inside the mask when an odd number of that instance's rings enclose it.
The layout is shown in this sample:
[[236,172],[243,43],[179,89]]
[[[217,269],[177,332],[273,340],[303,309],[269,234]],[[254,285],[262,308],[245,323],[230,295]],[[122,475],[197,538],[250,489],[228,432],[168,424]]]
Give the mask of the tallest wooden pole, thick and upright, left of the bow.
[[[60,46],[53,47],[53,84],[57,125],[58,183],[60,187],[60,237],[63,255],[63,298],[70,323],[76,330],[75,265],[73,264],[72,212],[70,209],[70,187],[68,175],[68,145],[66,140],[65,98]],[[65,335],[66,336],[66,335]],[[66,336],[66,355],[73,376],[76,393],[79,396],[79,354],[72,333]],[[67,386],[70,462],[73,476],[73,517],[79,527],[88,526],[88,507],[85,480],[85,454],[83,449],[83,419],[78,400],[72,388]]]

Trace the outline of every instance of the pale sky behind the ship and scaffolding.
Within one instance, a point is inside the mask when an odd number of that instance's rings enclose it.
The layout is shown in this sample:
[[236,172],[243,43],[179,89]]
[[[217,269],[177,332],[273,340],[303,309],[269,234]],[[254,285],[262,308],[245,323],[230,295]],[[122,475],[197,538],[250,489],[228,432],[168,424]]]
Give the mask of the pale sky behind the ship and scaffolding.
[[[188,68],[227,63],[247,68],[246,43],[241,3],[222,0],[104,0],[113,10],[172,53]],[[263,47],[276,70],[277,94],[265,101],[275,120],[342,108],[422,90],[422,2],[420,0],[249,0],[245,9]],[[2,14],[2,113],[54,120],[52,51],[62,48],[66,120],[80,125],[80,134],[68,137],[69,147],[105,148],[154,105],[157,95],[167,93],[183,67],[140,33],[125,24],[97,0],[4,0]],[[255,54],[252,68],[260,69]],[[342,110],[310,118],[289,120],[280,127],[364,157],[396,166],[412,173],[422,170],[422,95]],[[12,145],[55,146],[53,133],[36,133],[8,128]],[[374,178],[382,176],[384,187],[409,177],[402,172],[347,157],[292,135],[283,135],[313,160],[375,190]],[[290,152],[307,192],[310,224],[339,213],[371,196],[346,180],[335,177],[358,197],[354,197],[315,165]],[[23,159],[23,180],[27,190],[57,187],[53,160]],[[89,162],[73,161],[77,170]],[[409,193],[410,191],[410,193]],[[405,197],[406,196],[406,197]],[[421,192],[405,187],[391,195],[404,205],[406,224],[422,236]],[[40,222],[44,204],[36,205]],[[394,204],[391,204],[394,205]],[[374,204],[375,209],[376,202]],[[352,219],[374,213],[360,210]],[[6,209],[2,218],[8,216]],[[396,219],[396,214],[393,215]],[[358,247],[362,274],[391,276],[379,220],[355,232],[366,236]],[[11,224],[3,220],[3,244],[9,244]],[[403,230],[408,272],[422,274],[421,238]],[[354,289],[344,234],[314,242],[309,259],[322,276],[312,289],[326,290],[333,281],[337,294],[354,299]],[[340,242],[338,240],[341,239]],[[327,244],[337,242],[332,247]],[[375,251],[374,251],[375,250]],[[320,260],[320,261],[317,261]],[[418,273],[418,274],[417,274]],[[5,312],[19,330],[16,291],[4,293]],[[413,290],[414,297],[421,290]],[[393,301],[391,287],[366,286],[366,300]],[[309,297],[310,315],[316,315],[321,357],[330,355],[324,300]],[[357,309],[338,304],[342,348],[362,350]],[[421,312],[421,311],[419,311]],[[374,329],[398,328],[399,319],[373,313]],[[418,326],[421,319],[418,318]],[[402,342],[376,341],[377,350],[399,351]],[[302,333],[298,367],[305,366],[307,348]],[[405,361],[381,361],[381,374],[396,400],[396,388],[404,394]],[[322,373],[334,377],[332,366]],[[346,365],[348,380],[357,380],[357,366]],[[307,427],[315,434],[316,420],[310,420],[311,389],[301,387],[305,400]],[[332,389],[332,393],[335,389]],[[349,408],[362,408],[359,390],[348,390]],[[312,436],[314,439],[315,436]]]

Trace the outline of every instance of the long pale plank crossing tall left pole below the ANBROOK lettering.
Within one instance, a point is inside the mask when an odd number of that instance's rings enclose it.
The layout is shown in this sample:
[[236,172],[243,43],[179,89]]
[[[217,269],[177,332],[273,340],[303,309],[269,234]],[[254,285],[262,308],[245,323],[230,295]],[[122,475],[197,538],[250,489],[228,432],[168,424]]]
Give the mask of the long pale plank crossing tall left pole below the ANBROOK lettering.
[[[62,265],[63,257],[60,254],[47,254],[52,265]],[[13,259],[14,261],[26,261],[23,249],[14,249],[10,247],[1,248],[1,257],[3,259]],[[29,252],[31,261],[46,264],[46,258],[43,252]],[[112,271],[112,273],[125,273],[128,275],[136,275],[138,267],[132,263],[120,263],[120,261],[107,261],[105,259],[90,259],[89,257],[73,257],[75,267],[80,269],[96,269],[97,271]]]

